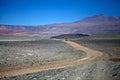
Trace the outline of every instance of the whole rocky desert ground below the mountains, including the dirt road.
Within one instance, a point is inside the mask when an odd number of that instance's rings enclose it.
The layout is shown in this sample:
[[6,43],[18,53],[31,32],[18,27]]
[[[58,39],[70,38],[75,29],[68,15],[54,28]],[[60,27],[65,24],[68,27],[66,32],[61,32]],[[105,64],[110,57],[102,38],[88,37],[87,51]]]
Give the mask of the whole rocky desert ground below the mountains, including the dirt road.
[[0,41],[0,80],[120,80],[120,36]]

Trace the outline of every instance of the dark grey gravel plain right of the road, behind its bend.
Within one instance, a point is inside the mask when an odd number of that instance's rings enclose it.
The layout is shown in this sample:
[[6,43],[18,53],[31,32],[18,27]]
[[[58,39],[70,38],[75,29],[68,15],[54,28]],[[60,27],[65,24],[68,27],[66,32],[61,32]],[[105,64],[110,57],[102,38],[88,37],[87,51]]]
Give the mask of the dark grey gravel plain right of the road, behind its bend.
[[112,57],[120,57],[120,39],[80,39],[74,40],[91,49],[107,53]]

